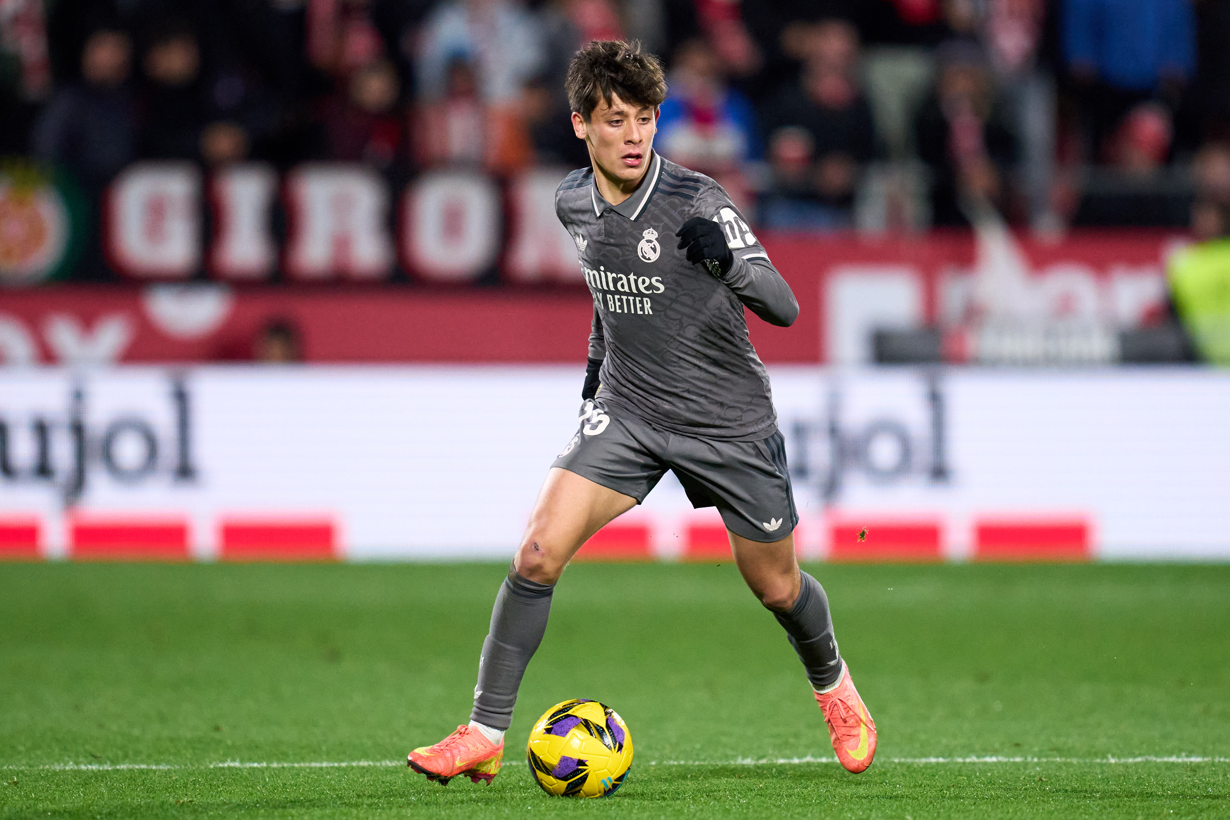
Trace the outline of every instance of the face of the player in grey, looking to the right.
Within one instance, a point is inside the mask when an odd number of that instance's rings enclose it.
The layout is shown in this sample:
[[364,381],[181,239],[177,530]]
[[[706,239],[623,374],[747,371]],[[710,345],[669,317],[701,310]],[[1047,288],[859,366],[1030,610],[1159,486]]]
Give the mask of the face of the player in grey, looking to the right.
[[599,101],[588,120],[573,112],[572,129],[589,146],[595,170],[616,184],[633,184],[649,167],[658,109],[636,108],[611,95],[611,104]]

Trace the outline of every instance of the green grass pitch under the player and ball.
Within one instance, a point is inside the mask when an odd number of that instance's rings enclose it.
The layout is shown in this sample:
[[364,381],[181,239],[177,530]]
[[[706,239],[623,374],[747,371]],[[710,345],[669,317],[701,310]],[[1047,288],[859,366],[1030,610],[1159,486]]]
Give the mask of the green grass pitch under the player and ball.
[[[1230,818],[1230,567],[809,569],[866,773],[731,564],[579,564],[509,765],[440,787],[405,755],[467,719],[506,566],[0,566],[0,816]],[[526,771],[569,697],[631,728],[609,800]]]

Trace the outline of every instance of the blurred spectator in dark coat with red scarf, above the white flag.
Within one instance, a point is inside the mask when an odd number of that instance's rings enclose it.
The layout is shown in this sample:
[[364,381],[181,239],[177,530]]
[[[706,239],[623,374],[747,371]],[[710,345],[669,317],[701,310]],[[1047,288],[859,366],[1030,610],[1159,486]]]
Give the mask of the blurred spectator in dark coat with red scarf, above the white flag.
[[996,102],[977,44],[950,41],[937,49],[935,87],[914,122],[919,159],[932,175],[934,224],[967,224],[967,198],[1006,209],[1017,144]]

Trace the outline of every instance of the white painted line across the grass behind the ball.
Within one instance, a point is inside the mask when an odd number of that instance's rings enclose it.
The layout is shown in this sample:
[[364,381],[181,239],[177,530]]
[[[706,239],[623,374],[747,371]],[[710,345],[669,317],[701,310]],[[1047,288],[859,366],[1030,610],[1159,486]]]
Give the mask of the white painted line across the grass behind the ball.
[[[651,760],[646,766],[793,766],[800,763],[835,763],[835,757],[739,757],[736,760]],[[1076,763],[1076,765],[1121,765],[1121,763],[1230,763],[1230,757],[1198,755],[1139,755],[1133,757],[1001,757],[998,755],[963,757],[888,757],[879,763],[935,765],[935,763]],[[213,763],[176,765],[176,763],[48,763],[44,766],[0,766],[2,771],[49,771],[49,772],[119,772],[119,771],[176,771],[184,768],[371,768],[403,767],[400,760],[342,760],[342,761],[300,761],[300,762],[245,762],[225,760]],[[523,761],[509,760],[506,766],[519,766]]]

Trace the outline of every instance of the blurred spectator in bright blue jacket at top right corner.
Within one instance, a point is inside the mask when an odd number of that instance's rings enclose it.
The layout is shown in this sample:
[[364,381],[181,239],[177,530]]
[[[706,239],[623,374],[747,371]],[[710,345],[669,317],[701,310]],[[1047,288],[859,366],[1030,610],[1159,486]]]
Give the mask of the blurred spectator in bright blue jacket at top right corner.
[[1178,107],[1196,63],[1189,0],[1066,0],[1063,44],[1080,90],[1086,152],[1111,160],[1111,136],[1140,102]]

